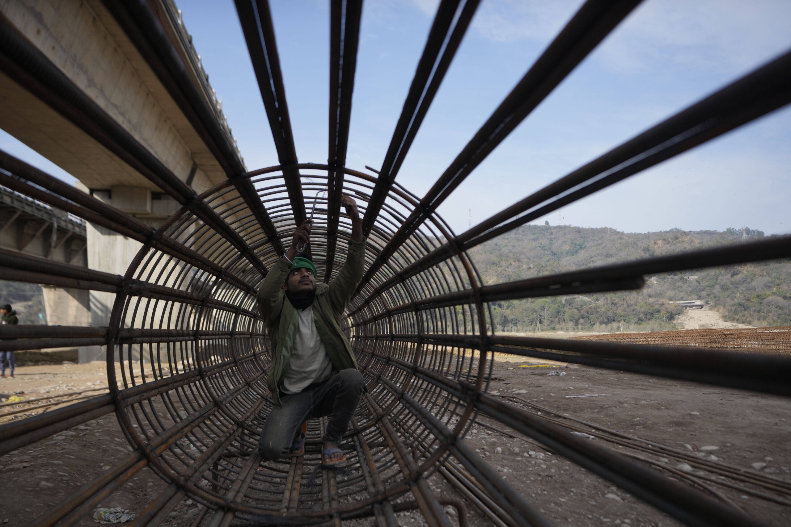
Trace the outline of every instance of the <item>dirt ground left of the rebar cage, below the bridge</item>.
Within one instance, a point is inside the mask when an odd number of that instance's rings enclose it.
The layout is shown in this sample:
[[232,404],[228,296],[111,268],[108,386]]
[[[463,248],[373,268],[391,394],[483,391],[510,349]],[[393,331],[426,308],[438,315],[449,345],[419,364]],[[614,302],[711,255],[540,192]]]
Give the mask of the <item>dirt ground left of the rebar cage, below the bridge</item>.
[[[72,395],[72,400],[107,390],[104,361],[17,367],[15,378],[0,378],[2,399],[17,394],[29,400],[94,388],[101,390]],[[17,408],[2,407],[0,414]],[[24,416],[25,413],[0,417],[0,423]],[[4,525],[9,527],[27,525],[83,484],[111,469],[111,465],[118,464],[131,450],[115,415],[108,414],[0,456],[0,520],[7,520]],[[100,506],[119,506],[139,513],[164,489],[165,483],[159,477],[143,469]],[[85,517],[78,525],[99,524]]]

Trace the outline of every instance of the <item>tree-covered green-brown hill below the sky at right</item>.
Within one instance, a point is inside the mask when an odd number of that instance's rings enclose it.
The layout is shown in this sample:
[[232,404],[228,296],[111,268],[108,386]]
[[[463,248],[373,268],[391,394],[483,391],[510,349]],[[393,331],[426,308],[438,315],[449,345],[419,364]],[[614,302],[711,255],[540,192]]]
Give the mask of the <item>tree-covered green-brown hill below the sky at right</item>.
[[[562,273],[763,239],[749,228],[626,233],[611,228],[524,225],[470,250],[486,284]],[[676,329],[682,308],[670,301],[705,300],[729,322],[791,324],[791,260],[729,265],[646,277],[636,292],[573,295],[494,303],[500,330],[645,331]]]

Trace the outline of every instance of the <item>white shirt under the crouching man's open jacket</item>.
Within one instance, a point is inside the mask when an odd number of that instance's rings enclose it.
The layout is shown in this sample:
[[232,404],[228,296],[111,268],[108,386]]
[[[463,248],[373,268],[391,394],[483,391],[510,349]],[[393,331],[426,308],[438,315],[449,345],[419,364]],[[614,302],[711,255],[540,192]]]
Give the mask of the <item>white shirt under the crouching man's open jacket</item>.
[[327,349],[316,330],[313,307],[297,309],[299,326],[291,350],[289,371],[283,379],[283,393],[300,393],[314,382],[326,380],[332,372],[332,363]]

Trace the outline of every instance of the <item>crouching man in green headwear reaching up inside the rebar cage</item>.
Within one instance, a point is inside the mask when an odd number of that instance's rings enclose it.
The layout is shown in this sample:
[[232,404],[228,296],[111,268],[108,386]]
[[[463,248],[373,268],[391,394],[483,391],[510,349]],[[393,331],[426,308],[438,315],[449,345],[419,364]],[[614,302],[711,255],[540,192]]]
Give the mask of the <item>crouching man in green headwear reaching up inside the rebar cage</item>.
[[338,446],[360,402],[363,381],[349,339],[341,330],[341,316],[362,278],[365,239],[357,203],[343,196],[341,204],[352,231],[338,277],[331,284],[316,285],[316,266],[297,256],[297,244],[310,243],[312,220],[305,220],[258,292],[272,343],[267,382],[275,404],[259,442],[265,460],[303,454],[306,421],[323,416],[331,417],[322,438],[322,463],[346,460]]

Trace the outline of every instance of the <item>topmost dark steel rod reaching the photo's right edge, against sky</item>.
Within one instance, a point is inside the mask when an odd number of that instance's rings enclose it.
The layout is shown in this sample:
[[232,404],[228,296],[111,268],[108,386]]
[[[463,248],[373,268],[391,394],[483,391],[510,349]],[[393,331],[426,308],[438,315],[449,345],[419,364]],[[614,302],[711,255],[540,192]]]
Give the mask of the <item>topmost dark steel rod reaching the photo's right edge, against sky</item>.
[[470,250],[789,104],[789,71],[791,53],[786,53],[456,236],[407,265],[399,276],[414,276],[451,258],[455,250]]

